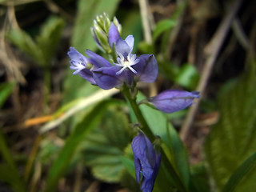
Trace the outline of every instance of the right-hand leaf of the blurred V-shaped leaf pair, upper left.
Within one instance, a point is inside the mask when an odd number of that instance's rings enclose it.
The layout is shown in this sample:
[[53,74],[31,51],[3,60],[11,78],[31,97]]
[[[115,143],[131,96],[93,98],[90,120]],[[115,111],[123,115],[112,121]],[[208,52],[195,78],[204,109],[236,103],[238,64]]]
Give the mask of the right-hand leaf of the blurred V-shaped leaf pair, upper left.
[[42,62],[43,66],[50,66],[50,61],[56,54],[63,27],[64,20],[55,17],[49,18],[42,26],[37,42],[42,51],[42,58],[38,62]]

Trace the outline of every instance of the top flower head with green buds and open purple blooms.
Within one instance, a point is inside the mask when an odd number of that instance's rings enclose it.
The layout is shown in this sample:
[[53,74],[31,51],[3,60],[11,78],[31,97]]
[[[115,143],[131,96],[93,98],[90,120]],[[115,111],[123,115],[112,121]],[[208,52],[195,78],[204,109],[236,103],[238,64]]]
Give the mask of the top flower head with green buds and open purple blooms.
[[[125,40],[120,37],[121,25],[117,18],[111,22],[106,13],[98,15],[94,19],[91,32],[97,46],[107,54],[111,54],[110,61],[115,63],[111,64],[90,50],[86,50],[89,58],[73,51],[79,55],[74,58],[69,54],[70,69],[75,70],[74,74],[79,74],[103,90],[122,88],[124,84],[134,87],[139,81],[155,81],[158,75],[158,63],[154,55],[142,54],[137,58],[136,54],[132,54],[134,37],[128,35]],[[72,49],[74,48],[70,48],[70,51]]]

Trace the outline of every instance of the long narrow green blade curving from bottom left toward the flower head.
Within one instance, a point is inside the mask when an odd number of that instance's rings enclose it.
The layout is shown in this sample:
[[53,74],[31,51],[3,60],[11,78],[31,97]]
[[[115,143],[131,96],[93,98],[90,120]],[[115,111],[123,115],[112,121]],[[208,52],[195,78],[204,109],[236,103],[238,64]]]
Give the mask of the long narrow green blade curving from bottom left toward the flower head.
[[65,146],[62,147],[50,168],[45,191],[54,191],[56,189],[58,180],[65,174],[66,168],[69,166],[78,146],[82,143],[85,136],[98,125],[102,114],[110,104],[113,104],[113,101],[109,100],[98,103],[97,106],[86,114],[82,122],[75,127],[74,132],[66,139]]

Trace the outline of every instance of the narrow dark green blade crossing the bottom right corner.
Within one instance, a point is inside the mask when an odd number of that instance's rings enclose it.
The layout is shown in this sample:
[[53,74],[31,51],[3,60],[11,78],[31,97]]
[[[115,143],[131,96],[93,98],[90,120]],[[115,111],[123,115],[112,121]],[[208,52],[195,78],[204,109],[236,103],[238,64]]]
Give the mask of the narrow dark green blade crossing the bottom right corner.
[[[230,176],[230,179],[228,180],[228,182],[226,182],[226,185],[224,186],[222,192],[234,191],[236,186],[238,186],[239,183],[242,182],[242,179],[246,177],[246,174],[248,174],[252,170],[255,171],[256,170],[255,168],[256,168],[256,152],[250,155],[250,157],[247,158],[245,162],[242,162],[242,165],[239,166],[238,169],[234,171],[234,173]],[[254,189],[255,188],[250,188],[250,190],[246,190],[246,191],[254,191]]]

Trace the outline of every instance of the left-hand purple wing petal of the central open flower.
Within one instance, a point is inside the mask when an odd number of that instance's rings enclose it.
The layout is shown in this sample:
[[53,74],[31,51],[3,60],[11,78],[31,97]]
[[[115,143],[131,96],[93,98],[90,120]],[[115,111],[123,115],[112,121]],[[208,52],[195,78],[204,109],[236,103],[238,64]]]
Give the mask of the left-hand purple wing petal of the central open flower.
[[110,90],[122,85],[122,80],[116,73],[120,70],[118,66],[102,67],[94,70],[94,79],[103,90]]

